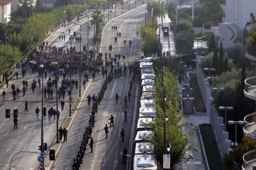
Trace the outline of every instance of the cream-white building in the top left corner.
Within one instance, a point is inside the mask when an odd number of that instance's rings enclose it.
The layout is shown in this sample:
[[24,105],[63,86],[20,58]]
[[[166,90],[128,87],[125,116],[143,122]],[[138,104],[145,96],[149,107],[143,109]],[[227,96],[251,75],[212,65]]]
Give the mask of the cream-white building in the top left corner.
[[0,0],[0,22],[9,22],[12,0]]

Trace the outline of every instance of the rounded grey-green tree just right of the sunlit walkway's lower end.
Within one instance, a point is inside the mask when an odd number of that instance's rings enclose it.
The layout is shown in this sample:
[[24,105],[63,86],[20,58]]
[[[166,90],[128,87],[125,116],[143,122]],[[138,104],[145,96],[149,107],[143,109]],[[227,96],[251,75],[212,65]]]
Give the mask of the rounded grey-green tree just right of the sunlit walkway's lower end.
[[185,49],[192,49],[194,45],[194,34],[186,31],[178,32],[175,36],[177,53],[182,53]]

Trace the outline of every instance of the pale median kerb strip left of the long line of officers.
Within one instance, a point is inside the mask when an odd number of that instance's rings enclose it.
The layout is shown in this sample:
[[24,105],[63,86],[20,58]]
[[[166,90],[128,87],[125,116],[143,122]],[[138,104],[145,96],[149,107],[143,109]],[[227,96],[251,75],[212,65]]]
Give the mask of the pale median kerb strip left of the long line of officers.
[[[84,99],[84,96],[85,96],[85,94],[87,93],[87,91],[88,91],[88,89],[89,89],[91,83],[92,83],[92,80],[89,79],[88,85],[87,85],[87,87],[86,87],[86,89],[85,89],[85,91],[84,91],[84,94],[83,94],[82,97],[81,97],[81,100]],[[76,97],[76,98],[77,98],[77,97]],[[82,103],[82,102],[80,102],[80,103],[78,104],[78,106],[77,106],[77,108],[76,108],[76,111],[74,112],[74,114],[73,114],[73,116],[72,116],[71,122],[70,122],[70,124],[68,125],[68,127],[66,128],[68,131],[69,131],[71,125],[72,125],[73,122],[74,122],[74,119],[73,119],[73,118],[76,116],[77,110],[80,109],[80,104],[81,104],[81,103]],[[61,126],[62,126],[62,125],[60,125],[60,127],[61,127]],[[53,140],[52,144],[55,142],[55,140],[56,140],[56,137],[54,137],[54,140]],[[51,144],[51,145],[52,145],[52,144]],[[55,150],[55,157],[58,155],[58,152],[60,151],[60,148],[61,148],[61,146],[62,146],[62,142],[59,142],[57,145],[58,145],[58,146],[57,146],[57,148],[56,148],[56,150]],[[52,147],[55,147],[55,146],[51,146],[51,148],[52,148]],[[49,148],[49,150],[50,150],[51,148]],[[44,160],[46,160],[46,157],[47,157],[47,156],[48,156],[48,155],[45,156]],[[54,163],[55,163],[55,160],[54,160],[54,161],[50,161],[50,164],[48,165],[48,167],[44,167],[44,169],[46,169],[46,170],[51,170]],[[44,164],[44,166],[45,166],[45,164]]]

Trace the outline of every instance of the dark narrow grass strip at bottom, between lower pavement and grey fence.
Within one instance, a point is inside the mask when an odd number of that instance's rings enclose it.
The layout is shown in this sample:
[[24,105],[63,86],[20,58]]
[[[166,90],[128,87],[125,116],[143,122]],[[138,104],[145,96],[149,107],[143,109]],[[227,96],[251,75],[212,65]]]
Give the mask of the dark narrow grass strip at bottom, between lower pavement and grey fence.
[[199,125],[210,170],[224,170],[219,149],[210,124]]

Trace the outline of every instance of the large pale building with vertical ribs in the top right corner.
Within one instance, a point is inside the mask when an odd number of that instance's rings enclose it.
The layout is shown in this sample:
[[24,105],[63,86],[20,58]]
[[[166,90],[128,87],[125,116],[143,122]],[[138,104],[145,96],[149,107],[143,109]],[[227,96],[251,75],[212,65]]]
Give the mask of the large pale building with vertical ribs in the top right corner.
[[243,29],[250,20],[250,13],[256,15],[256,0],[226,0],[226,22]]

